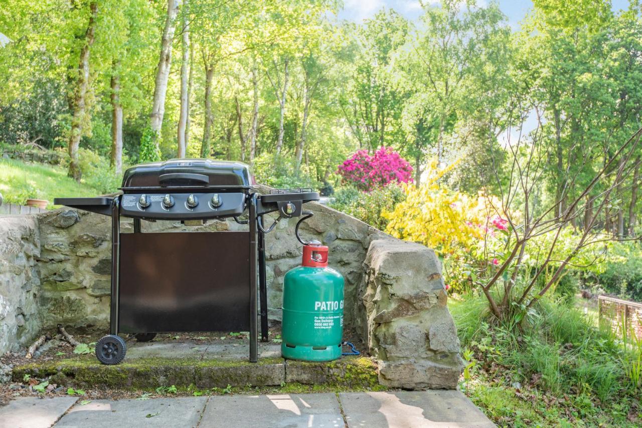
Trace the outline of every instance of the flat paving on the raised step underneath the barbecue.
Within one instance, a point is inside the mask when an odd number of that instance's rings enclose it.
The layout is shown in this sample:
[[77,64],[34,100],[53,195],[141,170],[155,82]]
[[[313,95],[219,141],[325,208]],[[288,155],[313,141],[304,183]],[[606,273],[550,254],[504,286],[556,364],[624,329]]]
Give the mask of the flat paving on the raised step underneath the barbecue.
[[[259,342],[259,358],[281,357],[281,345]],[[226,343],[135,342],[127,344],[125,359],[186,358],[244,361],[248,359],[250,344],[247,340],[231,339]]]

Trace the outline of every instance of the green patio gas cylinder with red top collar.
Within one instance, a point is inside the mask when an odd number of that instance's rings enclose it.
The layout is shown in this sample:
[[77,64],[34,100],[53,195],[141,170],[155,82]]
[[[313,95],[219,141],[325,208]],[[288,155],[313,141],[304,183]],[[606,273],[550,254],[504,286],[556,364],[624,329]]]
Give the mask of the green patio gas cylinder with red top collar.
[[343,277],[327,267],[327,246],[303,246],[302,266],[283,280],[281,354],[302,361],[330,361],[341,356]]

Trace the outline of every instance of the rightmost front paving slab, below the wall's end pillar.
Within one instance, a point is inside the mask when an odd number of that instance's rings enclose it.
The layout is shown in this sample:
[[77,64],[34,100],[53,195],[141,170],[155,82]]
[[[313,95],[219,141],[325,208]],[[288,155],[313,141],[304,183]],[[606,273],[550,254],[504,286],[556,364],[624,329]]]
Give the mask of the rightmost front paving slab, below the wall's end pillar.
[[494,427],[460,391],[340,393],[349,428]]

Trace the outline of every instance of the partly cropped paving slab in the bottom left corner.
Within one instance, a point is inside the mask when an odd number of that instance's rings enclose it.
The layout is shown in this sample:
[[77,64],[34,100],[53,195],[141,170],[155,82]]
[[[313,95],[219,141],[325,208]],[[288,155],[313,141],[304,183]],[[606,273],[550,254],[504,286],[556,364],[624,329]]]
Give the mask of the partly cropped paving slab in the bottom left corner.
[[76,402],[74,397],[21,397],[0,406],[0,428],[49,428]]

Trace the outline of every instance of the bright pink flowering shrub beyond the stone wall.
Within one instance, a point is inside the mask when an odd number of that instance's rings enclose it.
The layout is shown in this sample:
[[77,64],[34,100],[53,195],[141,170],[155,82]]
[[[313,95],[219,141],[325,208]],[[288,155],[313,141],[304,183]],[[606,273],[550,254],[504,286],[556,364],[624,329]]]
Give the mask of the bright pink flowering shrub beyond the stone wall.
[[338,167],[343,184],[363,191],[384,187],[390,182],[412,183],[412,166],[390,147],[382,147],[370,156],[359,150]]

